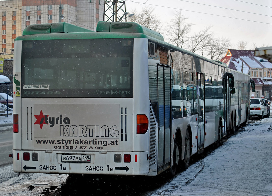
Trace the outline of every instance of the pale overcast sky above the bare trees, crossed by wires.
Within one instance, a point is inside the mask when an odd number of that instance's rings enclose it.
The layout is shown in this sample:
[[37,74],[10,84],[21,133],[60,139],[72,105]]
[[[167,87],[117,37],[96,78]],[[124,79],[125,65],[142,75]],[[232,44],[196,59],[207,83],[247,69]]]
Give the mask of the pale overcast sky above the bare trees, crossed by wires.
[[216,36],[230,39],[232,49],[237,49],[240,40],[248,42],[246,49],[250,50],[253,43],[272,46],[272,0],[126,0],[128,12],[140,12],[145,6],[153,7],[163,23],[171,21],[180,9],[187,22],[194,24],[192,32],[211,25]]

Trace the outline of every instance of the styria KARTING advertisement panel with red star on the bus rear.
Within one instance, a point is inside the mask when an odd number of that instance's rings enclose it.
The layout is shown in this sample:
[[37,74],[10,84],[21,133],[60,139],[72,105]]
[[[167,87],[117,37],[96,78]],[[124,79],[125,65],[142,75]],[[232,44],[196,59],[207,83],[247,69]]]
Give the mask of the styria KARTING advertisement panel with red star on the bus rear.
[[34,104],[34,148],[119,150],[119,122],[119,104]]

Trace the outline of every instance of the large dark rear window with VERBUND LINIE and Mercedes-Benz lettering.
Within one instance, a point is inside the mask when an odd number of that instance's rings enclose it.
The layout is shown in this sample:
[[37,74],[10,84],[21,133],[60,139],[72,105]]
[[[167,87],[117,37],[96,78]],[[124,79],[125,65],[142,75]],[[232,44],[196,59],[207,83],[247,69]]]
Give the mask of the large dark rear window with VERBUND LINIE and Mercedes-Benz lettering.
[[23,41],[22,97],[132,97],[133,39]]

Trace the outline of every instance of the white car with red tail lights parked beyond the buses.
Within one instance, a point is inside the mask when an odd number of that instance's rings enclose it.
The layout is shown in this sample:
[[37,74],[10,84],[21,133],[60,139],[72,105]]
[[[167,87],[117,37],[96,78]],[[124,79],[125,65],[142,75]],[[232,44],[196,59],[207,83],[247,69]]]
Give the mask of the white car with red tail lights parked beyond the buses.
[[259,98],[250,99],[250,114],[249,117],[258,116],[263,119],[264,115],[267,115],[267,107],[264,101]]

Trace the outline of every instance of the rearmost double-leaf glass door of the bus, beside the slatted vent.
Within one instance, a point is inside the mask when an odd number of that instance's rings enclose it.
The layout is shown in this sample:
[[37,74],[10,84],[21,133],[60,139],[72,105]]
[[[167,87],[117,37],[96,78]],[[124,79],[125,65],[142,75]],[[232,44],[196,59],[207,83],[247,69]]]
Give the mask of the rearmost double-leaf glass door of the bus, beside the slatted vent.
[[158,170],[170,164],[171,150],[171,75],[170,67],[158,65]]

